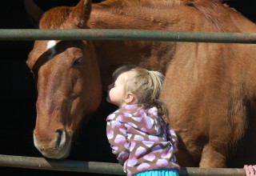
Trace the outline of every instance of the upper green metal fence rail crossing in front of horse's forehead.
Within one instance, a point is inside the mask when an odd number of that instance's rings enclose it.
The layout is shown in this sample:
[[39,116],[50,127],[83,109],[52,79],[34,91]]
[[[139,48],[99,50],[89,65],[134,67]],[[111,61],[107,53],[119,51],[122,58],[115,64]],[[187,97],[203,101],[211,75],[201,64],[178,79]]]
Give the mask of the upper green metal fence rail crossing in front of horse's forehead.
[[0,40],[143,40],[167,42],[256,43],[256,33],[191,32],[122,29],[0,29]]

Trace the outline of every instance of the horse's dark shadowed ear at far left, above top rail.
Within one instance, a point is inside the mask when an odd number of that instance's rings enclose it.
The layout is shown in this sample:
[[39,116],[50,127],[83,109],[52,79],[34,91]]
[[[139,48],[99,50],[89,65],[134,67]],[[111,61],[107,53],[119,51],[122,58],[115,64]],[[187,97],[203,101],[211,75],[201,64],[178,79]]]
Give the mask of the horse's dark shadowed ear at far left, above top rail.
[[26,13],[28,14],[28,17],[30,18],[30,21],[35,27],[39,26],[40,18],[42,17],[42,14],[44,13],[43,10],[41,10],[33,0],[24,0],[24,6],[26,8]]

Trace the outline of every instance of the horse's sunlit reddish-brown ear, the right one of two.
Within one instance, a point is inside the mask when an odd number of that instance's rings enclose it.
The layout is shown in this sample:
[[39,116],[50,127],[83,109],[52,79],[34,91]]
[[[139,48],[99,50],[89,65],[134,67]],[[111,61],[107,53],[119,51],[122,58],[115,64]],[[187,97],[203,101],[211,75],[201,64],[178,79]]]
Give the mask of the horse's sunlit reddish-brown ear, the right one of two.
[[78,22],[79,28],[84,28],[86,22],[90,18],[91,0],[81,0],[72,10],[72,18]]

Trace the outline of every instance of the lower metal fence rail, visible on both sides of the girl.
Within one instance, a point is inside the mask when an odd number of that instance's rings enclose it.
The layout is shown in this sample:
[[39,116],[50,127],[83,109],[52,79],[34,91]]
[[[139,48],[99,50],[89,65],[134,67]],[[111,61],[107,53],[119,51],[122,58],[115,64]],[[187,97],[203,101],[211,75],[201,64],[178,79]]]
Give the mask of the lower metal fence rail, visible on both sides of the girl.
[[[0,166],[18,167],[36,170],[58,170],[72,172],[88,172],[97,174],[118,174],[126,175],[122,166],[118,163],[109,162],[82,162],[72,160],[52,160],[47,158],[34,158],[23,156],[11,156],[0,154]],[[244,169],[214,168],[202,169],[197,167],[183,167],[179,175],[190,176],[246,176]]]

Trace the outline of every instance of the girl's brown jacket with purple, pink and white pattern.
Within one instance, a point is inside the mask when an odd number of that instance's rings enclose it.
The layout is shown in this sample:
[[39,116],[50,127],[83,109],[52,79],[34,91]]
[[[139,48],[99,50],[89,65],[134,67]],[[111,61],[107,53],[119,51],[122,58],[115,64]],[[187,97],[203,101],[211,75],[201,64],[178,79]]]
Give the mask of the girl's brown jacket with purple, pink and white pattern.
[[113,154],[127,175],[144,170],[180,170],[174,152],[178,138],[159,118],[154,106],[127,105],[106,118],[106,134]]

